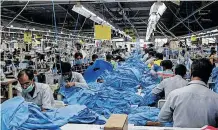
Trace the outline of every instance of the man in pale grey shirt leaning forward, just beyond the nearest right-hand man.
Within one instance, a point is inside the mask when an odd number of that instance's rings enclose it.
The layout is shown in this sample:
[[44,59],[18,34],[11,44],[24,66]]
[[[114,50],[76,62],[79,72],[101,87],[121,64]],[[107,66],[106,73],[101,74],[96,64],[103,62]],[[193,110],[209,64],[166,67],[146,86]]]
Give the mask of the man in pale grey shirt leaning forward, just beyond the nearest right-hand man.
[[175,68],[175,74],[176,75],[174,77],[161,81],[160,84],[152,90],[152,93],[157,97],[163,98],[161,94],[164,92],[166,99],[171,91],[184,87],[188,84],[188,81],[183,79],[186,74],[186,67],[184,65],[177,65]]

